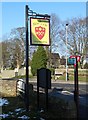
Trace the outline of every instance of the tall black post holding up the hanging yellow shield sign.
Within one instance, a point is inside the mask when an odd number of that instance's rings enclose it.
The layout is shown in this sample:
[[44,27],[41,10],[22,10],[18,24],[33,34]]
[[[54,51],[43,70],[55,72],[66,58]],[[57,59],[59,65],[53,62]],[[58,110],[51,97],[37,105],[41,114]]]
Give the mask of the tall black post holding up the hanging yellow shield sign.
[[29,56],[29,41],[28,41],[28,5],[25,8],[26,14],[26,88],[25,88],[25,103],[26,103],[26,111],[29,111],[29,64],[28,64],[28,56]]

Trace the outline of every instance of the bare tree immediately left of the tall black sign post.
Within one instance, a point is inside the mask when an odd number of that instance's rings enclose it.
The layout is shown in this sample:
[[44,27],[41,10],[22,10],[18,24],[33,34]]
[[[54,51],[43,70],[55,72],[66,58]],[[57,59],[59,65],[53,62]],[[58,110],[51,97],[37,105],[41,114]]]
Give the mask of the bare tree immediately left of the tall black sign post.
[[10,34],[10,41],[14,42],[12,44],[13,53],[13,63],[17,64],[16,67],[19,68],[24,62],[25,57],[25,28],[19,27],[14,28]]

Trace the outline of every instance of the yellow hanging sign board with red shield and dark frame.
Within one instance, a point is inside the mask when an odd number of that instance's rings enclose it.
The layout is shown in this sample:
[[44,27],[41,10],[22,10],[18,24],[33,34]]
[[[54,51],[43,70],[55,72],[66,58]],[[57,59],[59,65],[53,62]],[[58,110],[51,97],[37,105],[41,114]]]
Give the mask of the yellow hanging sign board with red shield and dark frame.
[[50,45],[50,22],[45,18],[30,18],[31,45]]

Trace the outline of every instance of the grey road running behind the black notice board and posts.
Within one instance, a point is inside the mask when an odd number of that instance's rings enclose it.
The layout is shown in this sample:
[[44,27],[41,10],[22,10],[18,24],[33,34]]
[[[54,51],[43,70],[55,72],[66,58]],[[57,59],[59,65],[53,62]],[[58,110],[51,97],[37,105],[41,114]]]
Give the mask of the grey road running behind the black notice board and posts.
[[[30,82],[34,86],[36,86],[36,84],[37,84],[36,80],[33,81],[33,80],[30,79]],[[58,80],[57,81],[52,81],[51,86],[52,86],[52,89],[53,88],[57,88],[57,87],[62,87],[63,90],[67,90],[69,92],[73,92],[74,91],[74,82],[72,82],[72,81],[67,81],[67,82],[65,82],[65,81],[58,81]],[[87,83],[82,83],[82,82],[79,83],[79,95],[80,96],[85,96],[85,95],[88,96],[87,88],[88,88],[88,84]]]

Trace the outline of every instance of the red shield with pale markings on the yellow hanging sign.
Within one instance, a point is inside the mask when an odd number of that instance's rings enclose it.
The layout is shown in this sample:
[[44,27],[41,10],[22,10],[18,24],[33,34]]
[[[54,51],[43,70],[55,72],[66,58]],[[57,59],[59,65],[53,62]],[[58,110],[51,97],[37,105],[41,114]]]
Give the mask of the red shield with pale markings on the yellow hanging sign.
[[37,37],[41,40],[45,35],[45,28],[41,26],[35,27],[35,33]]

